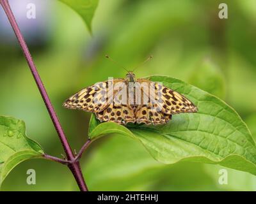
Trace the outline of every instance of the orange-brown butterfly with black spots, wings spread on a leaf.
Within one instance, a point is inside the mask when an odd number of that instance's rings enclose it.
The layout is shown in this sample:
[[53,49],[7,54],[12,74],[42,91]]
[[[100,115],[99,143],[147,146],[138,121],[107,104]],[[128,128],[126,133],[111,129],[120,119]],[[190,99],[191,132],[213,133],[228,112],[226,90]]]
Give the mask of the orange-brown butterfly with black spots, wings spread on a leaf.
[[161,83],[136,79],[132,71],[125,78],[110,78],[77,92],[65,108],[95,113],[100,122],[118,124],[166,124],[173,114],[195,113],[196,106],[186,97]]

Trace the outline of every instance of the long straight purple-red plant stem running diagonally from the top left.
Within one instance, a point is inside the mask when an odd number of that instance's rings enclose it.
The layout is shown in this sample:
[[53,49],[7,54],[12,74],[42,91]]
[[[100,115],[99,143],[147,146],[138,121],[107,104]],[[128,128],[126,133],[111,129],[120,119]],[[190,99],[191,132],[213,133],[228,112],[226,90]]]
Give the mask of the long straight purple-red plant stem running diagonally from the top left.
[[[54,108],[51,104],[51,101],[49,99],[49,96],[45,90],[44,84],[38,74],[38,71],[36,70],[36,66],[33,62],[33,59],[31,57],[31,54],[29,52],[28,46],[26,45],[26,42],[20,32],[19,26],[15,20],[15,17],[13,15],[12,9],[10,8],[10,4],[8,0],[0,0],[1,6],[3,6],[3,9],[10,21],[10,24],[12,25],[13,31],[15,35],[17,36],[17,40],[19,41],[20,47],[22,48],[22,52],[24,53],[26,60],[28,62],[29,68],[31,70],[31,73],[35,79],[36,85],[41,93],[42,98],[44,99],[45,106],[49,112],[49,115],[51,116],[52,122],[54,124],[54,127],[58,133],[58,136],[60,137],[61,143],[63,145],[63,149],[65,150],[65,153],[67,155],[67,159],[70,161],[73,161],[75,159],[74,154],[72,152],[72,149],[67,141],[67,138],[65,136],[65,133],[63,132],[63,129],[61,128],[60,122],[58,120],[58,117],[56,113],[54,112]],[[72,171],[77,185],[79,186],[79,189],[81,191],[88,191],[86,184],[84,182],[83,173],[80,168],[79,161],[76,161],[74,163],[68,164],[68,168]]]

